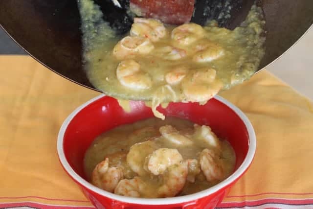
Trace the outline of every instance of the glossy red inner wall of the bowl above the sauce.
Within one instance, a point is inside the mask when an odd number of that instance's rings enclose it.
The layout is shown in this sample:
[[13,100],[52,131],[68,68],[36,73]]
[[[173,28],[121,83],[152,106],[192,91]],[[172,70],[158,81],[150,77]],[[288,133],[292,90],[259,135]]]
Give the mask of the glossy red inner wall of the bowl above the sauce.
[[[101,133],[116,126],[153,117],[149,107],[141,101],[131,102],[130,113],[124,112],[116,99],[103,96],[84,107],[67,126],[64,135],[64,153],[69,165],[86,180],[83,158],[90,143]],[[249,138],[245,123],[227,105],[216,98],[205,105],[198,103],[170,103],[158,110],[165,116],[189,119],[200,125],[209,125],[221,139],[230,142],[236,153],[236,170],[244,161]]]

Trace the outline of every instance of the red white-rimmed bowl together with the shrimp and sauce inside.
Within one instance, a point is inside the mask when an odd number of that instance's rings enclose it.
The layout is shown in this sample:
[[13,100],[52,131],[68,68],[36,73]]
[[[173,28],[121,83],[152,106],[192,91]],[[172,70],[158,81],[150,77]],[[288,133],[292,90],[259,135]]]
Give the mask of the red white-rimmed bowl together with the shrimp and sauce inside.
[[253,128],[223,98],[170,103],[162,113],[137,101],[125,112],[101,95],[67,118],[60,162],[97,208],[213,209],[252,162]]

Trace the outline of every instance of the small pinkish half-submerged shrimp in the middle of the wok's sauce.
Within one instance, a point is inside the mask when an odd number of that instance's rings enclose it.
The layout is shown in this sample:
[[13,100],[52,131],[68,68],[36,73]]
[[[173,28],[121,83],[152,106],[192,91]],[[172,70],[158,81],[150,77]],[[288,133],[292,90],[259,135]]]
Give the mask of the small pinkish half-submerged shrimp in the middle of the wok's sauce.
[[165,60],[179,60],[187,56],[187,52],[184,49],[164,46],[156,49],[156,55]]

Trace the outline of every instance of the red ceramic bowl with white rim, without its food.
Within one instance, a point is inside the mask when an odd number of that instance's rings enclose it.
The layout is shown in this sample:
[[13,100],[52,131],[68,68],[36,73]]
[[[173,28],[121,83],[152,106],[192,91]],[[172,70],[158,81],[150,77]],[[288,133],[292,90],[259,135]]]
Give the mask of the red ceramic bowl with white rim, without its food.
[[85,152],[101,133],[154,116],[151,109],[141,101],[131,102],[131,108],[132,111],[126,113],[116,99],[100,95],[71,113],[58,135],[57,149],[62,166],[99,209],[212,209],[223,200],[229,188],[242,177],[252,162],[256,149],[255,133],[248,118],[237,107],[220,96],[215,96],[205,105],[170,103],[167,108],[158,107],[158,110],[165,116],[209,125],[219,138],[230,142],[236,153],[232,175],[206,190],[161,199],[124,197],[97,188],[85,180]]

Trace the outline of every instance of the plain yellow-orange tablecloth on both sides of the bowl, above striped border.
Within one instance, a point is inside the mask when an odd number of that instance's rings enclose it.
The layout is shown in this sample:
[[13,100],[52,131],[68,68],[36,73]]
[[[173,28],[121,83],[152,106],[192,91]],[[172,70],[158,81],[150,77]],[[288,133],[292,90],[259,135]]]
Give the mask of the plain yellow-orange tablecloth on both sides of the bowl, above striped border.
[[[0,208],[90,207],[61,167],[56,139],[64,119],[99,93],[29,56],[0,56],[0,75]],[[246,113],[257,136],[251,167],[223,203],[313,199],[312,102],[266,70],[221,95]]]

